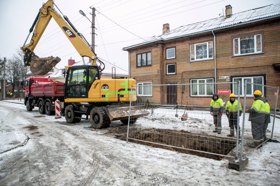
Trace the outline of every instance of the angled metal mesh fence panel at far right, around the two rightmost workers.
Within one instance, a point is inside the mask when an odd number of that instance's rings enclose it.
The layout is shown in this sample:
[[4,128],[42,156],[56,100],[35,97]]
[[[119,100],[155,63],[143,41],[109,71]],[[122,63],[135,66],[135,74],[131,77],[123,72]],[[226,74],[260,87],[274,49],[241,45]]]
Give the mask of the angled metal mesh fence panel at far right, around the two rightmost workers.
[[273,137],[279,88],[250,82],[244,87],[244,105],[248,109],[243,119],[245,136],[250,147],[259,147]]

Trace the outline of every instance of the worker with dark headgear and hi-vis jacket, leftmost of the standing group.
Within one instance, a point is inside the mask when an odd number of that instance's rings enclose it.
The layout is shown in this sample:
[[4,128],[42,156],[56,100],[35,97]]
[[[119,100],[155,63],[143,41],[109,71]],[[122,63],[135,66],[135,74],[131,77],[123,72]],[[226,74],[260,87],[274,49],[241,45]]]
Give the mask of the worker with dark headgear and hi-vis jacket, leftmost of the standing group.
[[213,94],[211,103],[210,103],[210,114],[213,116],[215,130],[213,132],[217,132],[218,134],[222,131],[222,115],[223,115],[223,100],[219,98],[218,94]]

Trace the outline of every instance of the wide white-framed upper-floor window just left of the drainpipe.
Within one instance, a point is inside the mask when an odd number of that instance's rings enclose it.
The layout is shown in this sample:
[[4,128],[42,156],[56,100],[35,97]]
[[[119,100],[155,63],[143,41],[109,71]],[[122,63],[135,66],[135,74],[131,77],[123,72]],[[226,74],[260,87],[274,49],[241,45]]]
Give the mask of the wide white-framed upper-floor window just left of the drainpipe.
[[213,42],[190,45],[191,61],[213,59]]

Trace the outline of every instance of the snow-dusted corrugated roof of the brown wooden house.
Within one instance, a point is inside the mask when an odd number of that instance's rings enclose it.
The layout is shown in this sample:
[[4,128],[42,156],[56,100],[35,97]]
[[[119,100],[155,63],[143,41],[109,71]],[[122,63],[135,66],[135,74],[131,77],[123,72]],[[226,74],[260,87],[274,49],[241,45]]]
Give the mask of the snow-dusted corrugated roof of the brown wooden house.
[[160,41],[160,40],[164,41],[168,39],[174,39],[176,37],[195,35],[203,32],[209,32],[212,30],[223,29],[231,26],[238,26],[239,24],[250,23],[253,21],[261,21],[265,18],[271,18],[273,16],[274,17],[280,16],[280,4],[270,4],[265,7],[259,7],[244,12],[239,12],[231,15],[231,17],[229,18],[226,18],[225,16],[221,16],[219,18],[193,23],[190,25],[180,26],[163,35],[153,36],[138,44],[133,44],[131,46],[124,47],[122,50],[155,42],[155,41]]

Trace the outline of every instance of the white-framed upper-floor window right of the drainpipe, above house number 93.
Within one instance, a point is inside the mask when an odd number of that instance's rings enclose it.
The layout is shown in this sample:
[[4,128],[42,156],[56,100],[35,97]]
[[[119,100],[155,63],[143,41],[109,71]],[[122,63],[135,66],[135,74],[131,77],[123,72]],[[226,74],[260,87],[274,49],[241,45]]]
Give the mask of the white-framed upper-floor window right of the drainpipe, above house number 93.
[[234,55],[245,55],[262,52],[262,34],[255,34],[233,39]]

